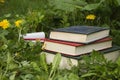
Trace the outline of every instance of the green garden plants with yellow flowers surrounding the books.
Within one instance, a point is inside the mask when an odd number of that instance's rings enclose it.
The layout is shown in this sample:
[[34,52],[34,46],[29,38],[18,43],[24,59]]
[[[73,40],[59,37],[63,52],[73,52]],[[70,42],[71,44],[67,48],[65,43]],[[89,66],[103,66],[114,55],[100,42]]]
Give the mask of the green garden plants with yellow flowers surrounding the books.
[[120,46],[120,0],[0,0],[0,80],[119,80],[120,58],[108,61],[93,51],[70,70],[59,69],[61,55],[45,61],[42,42],[22,34],[72,25],[109,27]]

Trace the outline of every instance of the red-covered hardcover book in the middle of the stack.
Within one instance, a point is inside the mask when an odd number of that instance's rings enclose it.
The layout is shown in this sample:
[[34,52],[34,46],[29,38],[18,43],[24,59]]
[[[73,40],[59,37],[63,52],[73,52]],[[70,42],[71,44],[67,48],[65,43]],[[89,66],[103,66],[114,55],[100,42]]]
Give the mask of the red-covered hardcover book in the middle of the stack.
[[110,48],[112,47],[112,38],[106,37],[89,44],[46,39],[45,45],[45,50],[76,56],[92,50]]

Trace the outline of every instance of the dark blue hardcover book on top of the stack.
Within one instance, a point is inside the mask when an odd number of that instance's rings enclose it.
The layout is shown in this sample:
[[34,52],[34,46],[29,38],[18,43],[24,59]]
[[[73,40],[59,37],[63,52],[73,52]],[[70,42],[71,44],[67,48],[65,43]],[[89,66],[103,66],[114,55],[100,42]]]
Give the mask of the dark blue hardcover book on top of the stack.
[[96,26],[71,26],[50,32],[50,39],[90,43],[109,36],[109,28]]

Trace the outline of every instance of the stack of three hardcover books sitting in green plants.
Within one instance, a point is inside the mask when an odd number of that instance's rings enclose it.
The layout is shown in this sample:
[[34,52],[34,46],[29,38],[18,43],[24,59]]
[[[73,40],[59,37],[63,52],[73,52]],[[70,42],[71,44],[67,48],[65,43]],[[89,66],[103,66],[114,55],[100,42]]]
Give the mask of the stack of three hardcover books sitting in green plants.
[[69,68],[67,59],[77,65],[77,58],[89,54],[93,50],[101,51],[108,60],[115,60],[119,55],[120,47],[112,46],[109,37],[109,28],[95,26],[71,26],[55,29],[45,40],[47,62],[51,63],[56,53],[63,55],[61,68]]

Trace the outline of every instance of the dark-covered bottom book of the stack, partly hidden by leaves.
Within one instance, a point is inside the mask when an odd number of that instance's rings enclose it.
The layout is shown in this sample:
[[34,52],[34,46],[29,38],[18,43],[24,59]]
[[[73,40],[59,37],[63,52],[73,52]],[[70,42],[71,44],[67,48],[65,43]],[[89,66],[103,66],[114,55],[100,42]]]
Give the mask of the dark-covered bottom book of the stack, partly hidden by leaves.
[[[107,60],[115,61],[120,56],[120,47],[119,46],[113,46],[111,48],[101,50],[100,52],[101,52],[101,54],[104,55],[104,57]],[[57,53],[45,51],[45,54],[46,54],[47,63],[52,63],[53,59],[54,59],[54,56]],[[60,62],[60,68],[70,69],[72,66],[78,65],[78,60],[82,60],[81,56],[82,55],[69,56],[69,55],[63,55],[62,54],[62,59],[61,59],[61,62]],[[69,65],[69,61],[72,63],[72,66]]]

